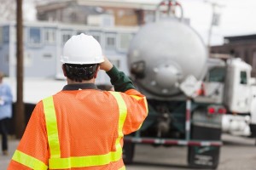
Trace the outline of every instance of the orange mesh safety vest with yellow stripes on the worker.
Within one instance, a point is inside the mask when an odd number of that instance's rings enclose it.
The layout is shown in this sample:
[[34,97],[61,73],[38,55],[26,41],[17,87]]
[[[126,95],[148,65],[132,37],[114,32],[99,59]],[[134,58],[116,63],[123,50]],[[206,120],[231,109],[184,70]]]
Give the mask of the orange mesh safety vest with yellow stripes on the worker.
[[[101,96],[103,93],[108,100],[97,99],[99,93]],[[45,133],[46,138],[41,138],[43,139],[42,145],[45,145],[45,142],[47,143],[47,146],[43,147],[44,149],[47,148],[47,151],[44,150],[44,154],[36,156],[29,153],[32,150],[26,150],[26,142],[40,146],[38,144],[40,142],[31,142],[28,139],[29,133],[37,133],[33,132],[33,126],[29,126],[29,123],[26,127],[26,133],[10,162],[9,169],[124,170],[125,165],[122,160],[124,134],[137,130],[148,114],[148,105],[143,94],[134,89],[126,91],[125,94],[90,89],[61,91],[44,99],[42,105],[45,127],[40,125],[39,127],[45,128],[45,132],[42,133]],[[94,99],[97,99],[99,104],[93,105],[95,104]],[[77,104],[78,100],[83,101],[83,103]],[[106,101],[108,102],[104,105]],[[67,105],[67,103],[71,106],[61,107]],[[84,104],[84,107],[81,106],[77,110],[81,113],[74,114],[75,116],[71,118],[70,116],[73,116],[71,114],[72,110]],[[33,113],[40,111],[38,107],[39,105],[36,106]],[[87,110],[82,111],[84,108],[87,108]],[[89,109],[91,111],[88,111]],[[37,122],[37,118],[33,118],[35,115],[40,116],[39,113],[38,115],[32,114],[31,121]],[[90,122],[87,120],[90,120]],[[81,122],[84,122],[84,124]],[[111,138],[109,138],[109,135]],[[35,139],[37,140],[37,137]],[[37,152],[37,149],[42,150],[42,148],[35,148],[34,151]],[[47,154],[47,158],[45,158],[45,154]]]

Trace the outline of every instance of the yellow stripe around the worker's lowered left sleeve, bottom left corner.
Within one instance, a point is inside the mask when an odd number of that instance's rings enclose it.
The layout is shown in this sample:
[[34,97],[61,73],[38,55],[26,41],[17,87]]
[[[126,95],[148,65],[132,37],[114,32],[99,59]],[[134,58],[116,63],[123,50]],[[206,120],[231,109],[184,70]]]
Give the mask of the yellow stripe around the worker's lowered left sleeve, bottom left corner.
[[32,156],[26,155],[20,150],[15,150],[15,154],[12,159],[32,169],[40,169],[40,170],[48,169],[48,167],[44,164],[43,161],[40,161]]

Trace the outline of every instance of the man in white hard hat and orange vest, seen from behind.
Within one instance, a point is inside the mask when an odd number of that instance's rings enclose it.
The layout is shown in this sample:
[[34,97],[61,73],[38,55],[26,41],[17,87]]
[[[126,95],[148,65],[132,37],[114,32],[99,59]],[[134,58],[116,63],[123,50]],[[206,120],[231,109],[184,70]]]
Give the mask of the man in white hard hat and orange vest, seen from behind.
[[[61,62],[67,85],[35,106],[8,169],[125,169],[123,138],[148,115],[145,96],[102,55],[94,37],[71,37]],[[96,88],[99,70],[114,92]]]

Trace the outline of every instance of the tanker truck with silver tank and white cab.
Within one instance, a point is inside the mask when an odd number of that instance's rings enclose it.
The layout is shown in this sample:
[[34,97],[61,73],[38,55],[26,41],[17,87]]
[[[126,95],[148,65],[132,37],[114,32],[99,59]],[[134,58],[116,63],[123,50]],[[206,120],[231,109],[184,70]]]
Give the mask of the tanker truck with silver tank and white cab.
[[168,15],[137,31],[128,65],[148,99],[148,117],[125,137],[125,163],[132,162],[136,144],[183,145],[189,166],[218,167],[223,116],[228,112],[243,121],[249,116],[250,68],[241,59],[208,55],[199,34],[182,18]]

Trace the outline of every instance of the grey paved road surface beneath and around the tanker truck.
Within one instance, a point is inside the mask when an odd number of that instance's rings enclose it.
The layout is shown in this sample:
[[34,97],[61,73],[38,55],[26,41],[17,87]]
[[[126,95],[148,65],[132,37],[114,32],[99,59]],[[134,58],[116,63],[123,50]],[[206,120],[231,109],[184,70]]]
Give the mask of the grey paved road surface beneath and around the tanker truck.
[[[256,170],[255,139],[247,139],[223,135],[224,146],[221,149],[218,170]],[[0,169],[7,169],[9,160],[17,140],[9,141],[9,156],[0,156]],[[127,170],[192,170],[187,165],[187,148],[152,147],[151,145],[137,144],[134,164],[126,166]]]

